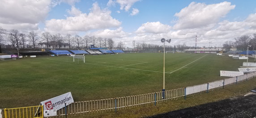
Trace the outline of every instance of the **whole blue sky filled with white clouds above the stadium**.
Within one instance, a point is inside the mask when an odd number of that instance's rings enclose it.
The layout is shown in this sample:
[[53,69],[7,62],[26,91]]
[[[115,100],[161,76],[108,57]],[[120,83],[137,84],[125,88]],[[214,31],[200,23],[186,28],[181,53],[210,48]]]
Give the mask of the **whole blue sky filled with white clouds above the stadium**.
[[256,0],[0,0],[0,27],[170,45],[222,46],[256,33]]

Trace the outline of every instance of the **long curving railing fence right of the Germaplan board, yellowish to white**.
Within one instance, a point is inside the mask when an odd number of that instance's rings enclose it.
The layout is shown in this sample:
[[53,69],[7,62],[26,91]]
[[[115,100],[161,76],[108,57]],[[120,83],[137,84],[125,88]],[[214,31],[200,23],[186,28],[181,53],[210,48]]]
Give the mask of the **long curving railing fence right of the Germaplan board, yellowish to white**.
[[[145,105],[156,105],[157,103],[177,100],[191,97],[201,93],[208,93],[215,89],[223,89],[225,86],[237,84],[238,82],[251,79],[255,76],[255,72],[247,73],[242,76],[217,80],[206,84],[199,84],[185,88],[167,90],[165,92],[147,93],[141,95],[117,97],[110,99],[78,101],[57,111],[57,116],[51,118],[63,118],[65,115],[80,116],[85,114],[102,113],[107,111],[118,111],[131,109],[133,107],[141,107]],[[9,110],[10,111],[10,110]],[[8,113],[9,114],[9,113]],[[11,113],[13,114],[13,113]],[[10,115],[10,114],[9,114]],[[5,117],[11,118],[11,117]],[[14,118],[14,117],[12,117]],[[19,118],[19,117],[15,117]],[[22,118],[22,117],[20,117]]]

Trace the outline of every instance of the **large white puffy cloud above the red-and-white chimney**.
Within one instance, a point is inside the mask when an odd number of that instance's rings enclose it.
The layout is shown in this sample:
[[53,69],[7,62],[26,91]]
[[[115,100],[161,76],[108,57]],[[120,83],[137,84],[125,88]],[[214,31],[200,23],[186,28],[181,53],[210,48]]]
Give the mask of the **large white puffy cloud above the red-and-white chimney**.
[[235,5],[230,2],[222,2],[219,4],[204,4],[192,2],[188,7],[175,13],[179,18],[174,25],[175,29],[199,28],[209,24],[214,24],[224,17],[230,10],[234,9]]

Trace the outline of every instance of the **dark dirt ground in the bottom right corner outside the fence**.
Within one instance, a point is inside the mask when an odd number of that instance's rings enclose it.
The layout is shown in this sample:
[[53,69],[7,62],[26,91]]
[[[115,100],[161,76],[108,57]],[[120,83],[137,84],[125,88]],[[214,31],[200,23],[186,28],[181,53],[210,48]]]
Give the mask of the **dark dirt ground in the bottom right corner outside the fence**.
[[256,94],[231,97],[148,118],[256,118]]

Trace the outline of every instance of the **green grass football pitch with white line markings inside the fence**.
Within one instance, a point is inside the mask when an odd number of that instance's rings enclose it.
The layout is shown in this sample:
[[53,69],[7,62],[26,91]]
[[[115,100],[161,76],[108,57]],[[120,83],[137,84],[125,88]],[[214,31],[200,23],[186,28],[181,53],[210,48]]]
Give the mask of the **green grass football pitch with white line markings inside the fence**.
[[[86,55],[85,61],[67,56],[0,61],[0,108],[39,105],[67,92],[74,101],[87,101],[162,91],[161,53]],[[166,54],[165,89],[226,78],[219,76],[220,70],[236,71],[244,61],[214,54]]]

